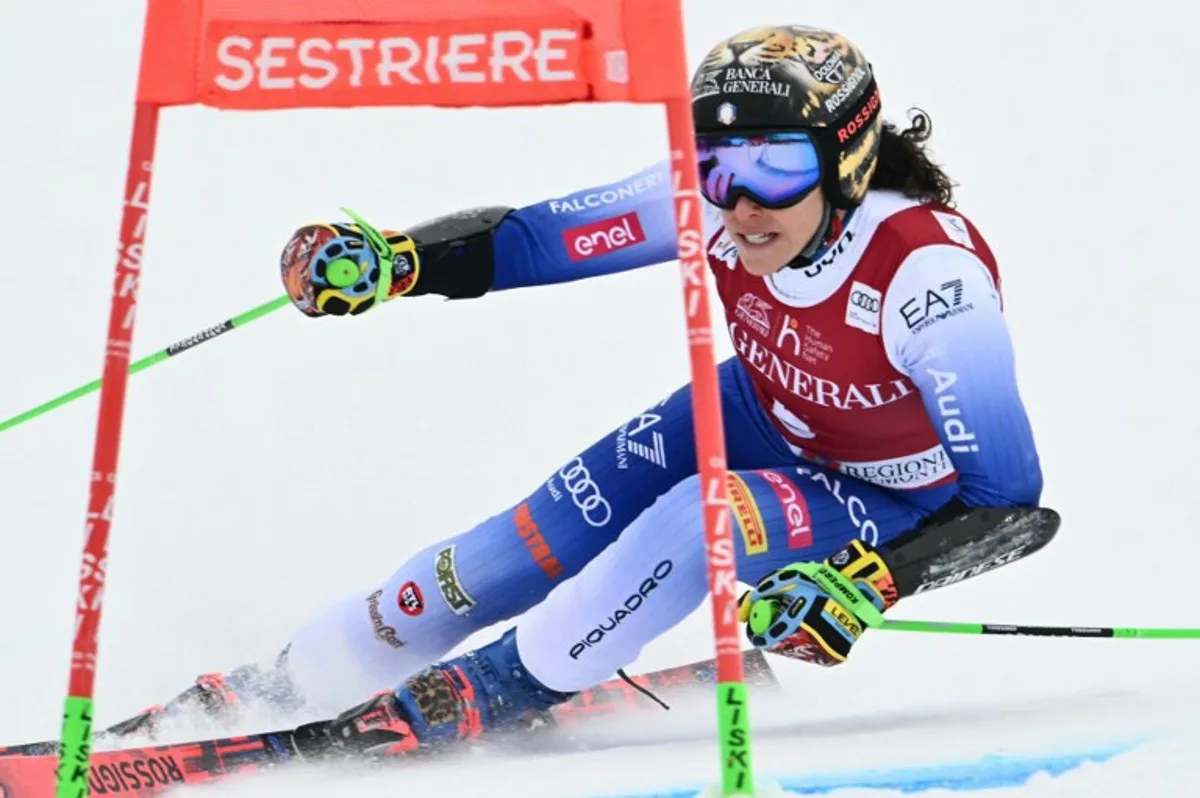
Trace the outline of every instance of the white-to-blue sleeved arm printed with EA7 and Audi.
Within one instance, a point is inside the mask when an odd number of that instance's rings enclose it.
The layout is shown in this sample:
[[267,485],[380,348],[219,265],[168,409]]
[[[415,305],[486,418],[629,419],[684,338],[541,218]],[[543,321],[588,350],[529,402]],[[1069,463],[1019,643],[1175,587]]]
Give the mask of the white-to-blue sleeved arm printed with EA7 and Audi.
[[883,344],[920,391],[959,503],[1032,506],[1042,469],[991,274],[952,245],[914,251],[883,299]]

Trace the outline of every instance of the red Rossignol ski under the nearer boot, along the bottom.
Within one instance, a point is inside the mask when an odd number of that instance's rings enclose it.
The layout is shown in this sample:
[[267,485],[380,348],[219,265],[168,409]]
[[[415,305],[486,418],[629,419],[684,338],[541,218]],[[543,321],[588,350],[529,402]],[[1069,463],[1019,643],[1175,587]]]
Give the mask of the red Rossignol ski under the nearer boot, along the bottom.
[[[778,688],[762,652],[746,650],[743,661],[746,684],[758,689]],[[629,680],[611,679],[582,690],[571,701],[551,709],[541,727],[569,731],[574,724],[599,716],[655,710],[658,704],[642,695],[643,690],[670,697],[689,688],[712,685],[715,680],[715,660],[654,671],[630,677]],[[152,796],[178,785],[206,784],[293,761],[374,758],[342,748],[329,733],[331,722],[316,721],[240,737],[92,751],[86,763],[89,794]],[[515,737],[520,738],[520,733]],[[577,750],[580,745],[574,748]],[[59,766],[56,751],[55,743],[0,748],[0,798],[42,798],[50,794]],[[419,756],[425,758],[430,755]],[[64,762],[64,767],[82,768],[84,763]]]

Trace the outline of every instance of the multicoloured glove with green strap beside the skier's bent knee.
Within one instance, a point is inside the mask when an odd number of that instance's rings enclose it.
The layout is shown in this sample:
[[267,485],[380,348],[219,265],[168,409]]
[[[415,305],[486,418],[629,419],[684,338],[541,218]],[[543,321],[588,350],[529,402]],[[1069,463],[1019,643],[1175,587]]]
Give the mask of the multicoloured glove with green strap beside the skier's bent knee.
[[824,563],[794,563],[768,574],[742,595],[738,617],[756,648],[840,665],[871,618],[898,600],[887,563],[854,540]]

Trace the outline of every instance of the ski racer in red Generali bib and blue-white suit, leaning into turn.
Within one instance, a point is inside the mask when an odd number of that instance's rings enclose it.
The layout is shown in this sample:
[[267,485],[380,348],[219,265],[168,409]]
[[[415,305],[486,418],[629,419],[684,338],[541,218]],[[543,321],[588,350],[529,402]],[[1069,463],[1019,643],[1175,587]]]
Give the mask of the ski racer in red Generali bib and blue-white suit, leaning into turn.
[[[836,665],[864,628],[790,565],[823,560],[886,611],[896,590],[878,547],[1039,500],[996,259],[924,150],[928,118],[884,122],[871,65],[838,34],[720,42],[692,109],[704,250],[736,348],[719,378],[737,569],[757,583],[743,620],[778,601],[781,623],[752,643]],[[313,317],[362,313],[377,294],[476,298],[674,260],[673,212],[664,163],[406,232],[306,226],[282,276]],[[370,750],[404,752],[512,727],[607,679],[707,595],[690,402],[685,385],[510,509],[330,606],[272,664],[200,677],[138,722],[266,701],[344,710],[360,731],[370,720]]]

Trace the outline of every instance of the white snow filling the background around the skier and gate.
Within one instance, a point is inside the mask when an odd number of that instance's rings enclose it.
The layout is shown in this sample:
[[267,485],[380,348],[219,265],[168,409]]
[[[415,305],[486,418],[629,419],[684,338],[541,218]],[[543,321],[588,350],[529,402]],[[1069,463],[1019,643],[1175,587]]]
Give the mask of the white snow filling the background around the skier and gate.
[[[1195,5],[686,6],[692,62],[720,36],[764,22],[857,40],[881,76],[886,114],[931,112],[960,206],[1000,257],[1044,500],[1064,528],[1033,559],[911,599],[898,617],[1200,625]],[[10,229],[0,418],[100,373],[142,13],[138,2],[84,0],[0,12]],[[337,217],[340,205],[403,227],[562,194],[666,151],[661,112],[632,106],[190,108],[166,113],[160,132],[137,354],[278,295],[288,234]],[[324,602],[510,506],[686,378],[672,265],[473,302],[404,300],[353,320],[284,310],[138,374],[100,720],[174,695],[198,672],[270,654]],[[59,732],[95,415],[91,397],[0,437],[4,743]],[[706,607],[632,670],[707,656],[708,619]],[[842,668],[779,666],[790,700],[754,706],[755,757],[782,778],[1151,736],[1014,792],[1189,796],[1198,666],[1200,642],[875,632]],[[715,779],[715,745],[677,738],[710,728],[714,713],[689,712],[668,715],[674,727],[661,739],[676,742],[658,745],[481,755],[403,773],[323,768],[205,794],[527,798],[700,785]]]

